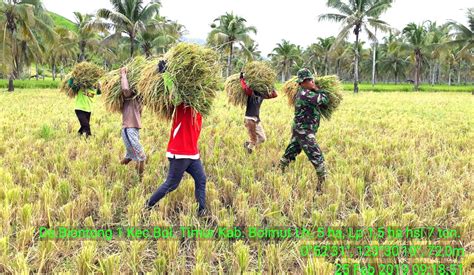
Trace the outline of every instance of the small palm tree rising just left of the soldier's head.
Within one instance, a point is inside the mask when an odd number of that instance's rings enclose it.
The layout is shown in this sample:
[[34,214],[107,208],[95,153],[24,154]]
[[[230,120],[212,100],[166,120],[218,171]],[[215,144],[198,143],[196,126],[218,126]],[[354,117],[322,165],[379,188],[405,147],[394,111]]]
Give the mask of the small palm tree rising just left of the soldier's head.
[[301,49],[288,40],[282,40],[268,56],[277,63],[281,72],[281,81],[285,82],[290,78],[292,66],[301,59]]

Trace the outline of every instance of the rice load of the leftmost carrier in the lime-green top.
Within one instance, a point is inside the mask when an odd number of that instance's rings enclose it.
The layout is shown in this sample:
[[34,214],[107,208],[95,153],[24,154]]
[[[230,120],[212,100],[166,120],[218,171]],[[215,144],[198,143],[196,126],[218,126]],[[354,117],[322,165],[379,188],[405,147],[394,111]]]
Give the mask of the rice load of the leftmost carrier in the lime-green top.
[[[93,89],[97,86],[99,79],[105,71],[89,62],[81,62],[74,66],[72,72],[61,83],[61,92],[65,92],[69,97],[74,97],[79,89]],[[70,89],[69,81],[73,79],[74,89]]]

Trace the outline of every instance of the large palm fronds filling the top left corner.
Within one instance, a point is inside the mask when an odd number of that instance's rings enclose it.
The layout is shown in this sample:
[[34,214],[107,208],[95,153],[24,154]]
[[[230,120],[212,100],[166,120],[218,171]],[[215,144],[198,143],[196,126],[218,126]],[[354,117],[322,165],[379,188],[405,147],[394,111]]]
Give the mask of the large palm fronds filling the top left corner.
[[[14,79],[19,77],[22,54],[31,49],[38,58],[41,53],[38,37],[54,39],[54,31],[48,25],[46,16],[39,12],[39,0],[3,0],[0,2],[0,28],[3,30],[3,60],[8,60],[3,69],[8,74],[8,91],[13,92]],[[36,10],[38,9],[38,11]],[[7,58],[5,56],[8,56]],[[24,56],[24,55],[23,55]]]

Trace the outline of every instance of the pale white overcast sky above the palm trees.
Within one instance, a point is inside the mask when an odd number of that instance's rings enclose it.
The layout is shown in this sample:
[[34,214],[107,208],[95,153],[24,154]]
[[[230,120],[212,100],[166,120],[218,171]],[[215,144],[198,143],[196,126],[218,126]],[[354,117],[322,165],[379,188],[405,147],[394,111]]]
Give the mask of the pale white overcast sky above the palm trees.
[[[109,0],[43,0],[46,8],[69,19],[73,12],[95,13],[110,8]],[[149,2],[149,1],[146,1]],[[186,26],[186,37],[206,39],[210,24],[225,12],[234,12],[257,28],[259,49],[268,54],[282,39],[308,46],[317,37],[336,35],[338,23],[318,22],[317,16],[332,12],[326,0],[162,0],[161,15]],[[425,20],[444,23],[453,19],[467,24],[466,9],[472,0],[395,0],[381,19],[402,29],[410,22]],[[379,36],[379,35],[378,35]],[[353,39],[350,37],[349,39]]]

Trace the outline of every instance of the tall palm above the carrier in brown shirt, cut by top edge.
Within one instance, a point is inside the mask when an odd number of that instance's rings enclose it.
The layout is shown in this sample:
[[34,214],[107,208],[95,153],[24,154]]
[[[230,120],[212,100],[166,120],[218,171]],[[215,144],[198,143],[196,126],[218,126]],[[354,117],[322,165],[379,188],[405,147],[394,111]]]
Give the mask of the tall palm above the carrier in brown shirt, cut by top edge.
[[137,36],[146,30],[147,23],[161,7],[159,0],[152,0],[144,5],[143,0],[110,0],[113,9],[99,9],[97,20],[89,27],[99,30],[114,29],[115,33],[107,39],[114,39],[125,34],[130,42],[130,57],[135,54]]

